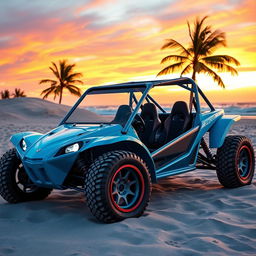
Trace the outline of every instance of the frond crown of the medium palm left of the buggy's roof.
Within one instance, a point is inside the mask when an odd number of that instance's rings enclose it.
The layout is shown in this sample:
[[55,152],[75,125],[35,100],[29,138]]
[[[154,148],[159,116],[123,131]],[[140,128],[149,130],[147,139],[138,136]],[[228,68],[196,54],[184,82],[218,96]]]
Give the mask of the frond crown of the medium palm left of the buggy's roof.
[[57,79],[43,79],[39,82],[39,84],[51,84],[50,87],[42,91],[43,99],[46,99],[50,94],[54,94],[54,100],[56,96],[59,96],[59,104],[61,104],[64,89],[67,89],[73,95],[81,96],[80,88],[74,84],[83,84],[81,80],[78,80],[78,78],[82,77],[82,74],[74,73],[74,67],[75,64],[68,64],[67,60],[60,60],[59,67],[52,62],[52,66],[49,68]]

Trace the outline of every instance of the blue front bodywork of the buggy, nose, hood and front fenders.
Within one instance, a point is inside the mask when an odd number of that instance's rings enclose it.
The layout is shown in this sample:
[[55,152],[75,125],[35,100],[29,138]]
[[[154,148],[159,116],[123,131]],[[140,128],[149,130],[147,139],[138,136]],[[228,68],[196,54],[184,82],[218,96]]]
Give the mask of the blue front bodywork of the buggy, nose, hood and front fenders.
[[[122,134],[122,126],[113,125],[61,125],[45,135],[37,133],[19,133],[11,137],[20,159],[31,180],[38,186],[61,188],[67,174],[80,152],[97,146],[122,141],[133,141],[145,148],[135,131],[129,129]],[[28,149],[24,152],[20,146],[24,139]],[[77,152],[57,155],[59,150],[76,142],[82,142]],[[145,148],[148,152],[148,149]]]

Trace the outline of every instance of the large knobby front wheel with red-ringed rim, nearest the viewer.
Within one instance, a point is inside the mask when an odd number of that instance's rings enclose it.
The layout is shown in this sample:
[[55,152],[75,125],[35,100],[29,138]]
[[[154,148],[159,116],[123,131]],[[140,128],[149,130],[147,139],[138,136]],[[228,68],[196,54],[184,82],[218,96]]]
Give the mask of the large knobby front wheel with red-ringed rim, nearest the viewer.
[[[85,175],[87,205],[92,214],[105,223],[141,216],[148,205],[151,189],[145,162],[132,152],[107,152],[95,159]],[[129,195],[127,191],[132,190],[134,195]]]

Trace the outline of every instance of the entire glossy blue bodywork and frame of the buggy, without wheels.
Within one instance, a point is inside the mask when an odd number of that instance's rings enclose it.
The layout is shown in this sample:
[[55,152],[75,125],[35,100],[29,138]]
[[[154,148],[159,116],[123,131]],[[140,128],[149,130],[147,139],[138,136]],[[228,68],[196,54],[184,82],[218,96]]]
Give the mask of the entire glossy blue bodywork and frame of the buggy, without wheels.
[[[143,103],[143,100],[145,100],[147,97],[148,92],[157,84],[178,84],[184,89],[190,90],[191,93],[194,94],[197,112],[194,116],[192,128],[189,131],[167,143],[167,145],[164,145],[160,149],[154,152],[149,152],[148,148],[140,141],[131,124],[141,104]],[[192,87],[188,88],[186,87],[186,84],[191,84]],[[67,118],[72,114],[79,103],[92,90],[100,91],[109,88],[118,90],[118,88],[121,87],[136,87],[142,85],[145,86],[142,98],[137,103],[134,112],[124,126],[119,124],[78,125],[65,123]],[[57,128],[46,134],[35,132],[18,133],[11,137],[11,142],[15,146],[17,154],[19,155],[30,179],[36,185],[42,187],[62,189],[63,182],[65,181],[67,175],[71,171],[81,152],[100,146],[106,147],[107,151],[108,145],[123,143],[127,141],[135,143],[141,148],[141,150],[146,152],[149,159],[151,159],[152,166],[154,168],[153,157],[155,154],[161,150],[164,150],[168,145],[170,146],[174,145],[175,143],[179,143],[184,138],[186,138],[186,136],[189,136],[190,133],[194,134],[194,138],[189,145],[188,150],[186,150],[184,154],[170,161],[168,164],[153,170],[151,176],[153,179],[159,179],[166,176],[172,176],[187,171],[192,171],[196,168],[197,154],[202,137],[208,131],[210,131],[210,146],[220,147],[230,125],[237,119],[237,117],[230,118],[224,116],[223,110],[215,110],[210,103],[209,106],[211,111],[208,113],[201,113],[199,93],[202,93],[201,90],[198,90],[196,83],[189,78],[124,83],[90,88],[78,100],[78,102],[69,111],[66,117],[64,117]],[[24,139],[27,144],[26,151],[23,151],[21,148],[22,139]],[[79,143],[79,150],[77,152],[64,154],[64,149],[74,143]]]

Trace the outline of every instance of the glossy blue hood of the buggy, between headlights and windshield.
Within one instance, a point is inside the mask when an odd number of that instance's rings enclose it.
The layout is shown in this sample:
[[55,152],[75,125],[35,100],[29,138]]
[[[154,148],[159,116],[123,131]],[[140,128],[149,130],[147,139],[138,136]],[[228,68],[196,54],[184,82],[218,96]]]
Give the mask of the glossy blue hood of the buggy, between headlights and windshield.
[[50,157],[55,155],[61,148],[70,144],[120,135],[121,130],[122,127],[118,124],[97,126],[61,125],[40,137],[28,148],[25,156],[37,159]]

